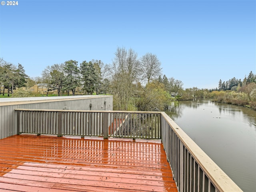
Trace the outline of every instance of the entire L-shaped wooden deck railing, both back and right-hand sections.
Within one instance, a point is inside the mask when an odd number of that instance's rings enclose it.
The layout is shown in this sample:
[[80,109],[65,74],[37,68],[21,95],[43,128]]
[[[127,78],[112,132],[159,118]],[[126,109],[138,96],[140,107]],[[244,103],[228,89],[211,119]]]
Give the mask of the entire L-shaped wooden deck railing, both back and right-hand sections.
[[162,139],[180,192],[242,192],[164,112],[16,109],[18,133]]

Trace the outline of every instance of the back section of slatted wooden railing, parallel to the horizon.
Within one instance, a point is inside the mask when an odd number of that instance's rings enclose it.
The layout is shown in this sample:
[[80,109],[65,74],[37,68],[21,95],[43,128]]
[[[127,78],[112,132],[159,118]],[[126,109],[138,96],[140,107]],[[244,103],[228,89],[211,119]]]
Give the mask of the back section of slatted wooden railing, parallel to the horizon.
[[160,139],[159,112],[16,109],[18,133]]

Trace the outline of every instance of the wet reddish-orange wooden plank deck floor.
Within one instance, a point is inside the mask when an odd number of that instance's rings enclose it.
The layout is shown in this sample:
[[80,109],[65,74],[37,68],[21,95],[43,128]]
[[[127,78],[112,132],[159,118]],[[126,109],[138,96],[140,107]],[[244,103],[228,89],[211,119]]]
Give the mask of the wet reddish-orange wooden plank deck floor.
[[0,192],[177,192],[161,143],[11,136]]

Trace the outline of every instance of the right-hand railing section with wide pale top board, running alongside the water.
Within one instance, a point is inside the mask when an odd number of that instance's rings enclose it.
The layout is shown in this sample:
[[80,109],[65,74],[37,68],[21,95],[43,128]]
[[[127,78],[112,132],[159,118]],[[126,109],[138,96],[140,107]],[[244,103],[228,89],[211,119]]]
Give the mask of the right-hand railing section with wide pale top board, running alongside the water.
[[162,142],[180,192],[242,192],[166,113],[161,114]]

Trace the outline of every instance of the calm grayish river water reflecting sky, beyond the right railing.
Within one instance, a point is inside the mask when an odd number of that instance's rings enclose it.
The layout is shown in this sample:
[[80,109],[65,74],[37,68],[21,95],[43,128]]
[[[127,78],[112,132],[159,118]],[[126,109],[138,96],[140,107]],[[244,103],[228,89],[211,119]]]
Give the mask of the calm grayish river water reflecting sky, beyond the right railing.
[[256,192],[256,111],[207,100],[166,113],[245,192]]

